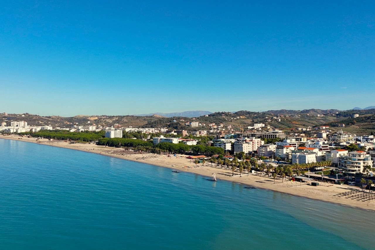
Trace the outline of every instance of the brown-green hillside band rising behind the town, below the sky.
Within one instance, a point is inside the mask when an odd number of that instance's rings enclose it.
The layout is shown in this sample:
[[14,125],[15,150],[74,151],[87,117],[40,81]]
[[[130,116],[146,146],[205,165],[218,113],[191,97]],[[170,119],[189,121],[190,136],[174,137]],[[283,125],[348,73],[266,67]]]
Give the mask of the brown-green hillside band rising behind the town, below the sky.
[[[353,114],[359,114],[353,118]],[[355,133],[371,133],[375,129],[375,109],[368,110],[269,110],[264,112],[253,112],[241,110],[231,112],[215,112],[195,119],[188,117],[164,117],[158,114],[152,116],[37,116],[35,114],[0,114],[1,120],[9,117],[15,117],[16,121],[25,120],[30,126],[51,125],[53,127],[69,128],[73,125],[101,125],[113,126],[115,123],[123,127],[132,126],[134,128],[160,128],[165,127],[175,130],[207,130],[208,127],[191,128],[185,125],[189,121],[198,121],[199,123],[223,123],[225,126],[231,125],[234,130],[246,130],[248,126],[261,122],[271,127],[290,131],[295,128],[306,128],[308,126],[316,127],[320,125],[330,125],[333,129],[338,124],[345,124],[343,130]],[[280,119],[280,120],[279,120]],[[174,122],[175,120],[175,122]],[[11,120],[6,120],[10,125]],[[337,128],[337,129],[341,129]]]

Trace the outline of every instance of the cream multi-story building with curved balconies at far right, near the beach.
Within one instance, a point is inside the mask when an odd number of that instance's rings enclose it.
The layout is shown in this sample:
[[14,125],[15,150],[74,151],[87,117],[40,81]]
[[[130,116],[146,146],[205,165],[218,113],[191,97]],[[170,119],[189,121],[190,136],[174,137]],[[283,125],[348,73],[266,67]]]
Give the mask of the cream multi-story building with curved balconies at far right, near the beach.
[[362,173],[365,166],[372,166],[371,155],[365,151],[353,151],[340,156],[339,168],[348,174]]

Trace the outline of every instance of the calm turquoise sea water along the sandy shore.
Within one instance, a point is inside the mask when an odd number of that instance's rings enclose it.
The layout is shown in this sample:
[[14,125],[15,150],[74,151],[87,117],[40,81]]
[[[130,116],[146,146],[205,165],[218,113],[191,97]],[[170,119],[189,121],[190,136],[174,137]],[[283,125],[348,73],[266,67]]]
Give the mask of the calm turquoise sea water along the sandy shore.
[[374,249],[375,213],[0,140],[1,249]]

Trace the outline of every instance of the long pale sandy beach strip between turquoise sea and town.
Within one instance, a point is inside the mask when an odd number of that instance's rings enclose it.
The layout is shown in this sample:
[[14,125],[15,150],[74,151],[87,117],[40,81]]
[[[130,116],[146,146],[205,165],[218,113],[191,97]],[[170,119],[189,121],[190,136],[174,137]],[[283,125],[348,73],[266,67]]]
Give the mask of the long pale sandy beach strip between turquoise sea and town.
[[[131,160],[141,163],[153,164],[161,167],[168,167],[181,172],[190,172],[202,176],[208,176],[209,178],[211,178],[211,175],[215,173],[218,180],[232,181],[255,188],[268,189],[290,194],[293,196],[300,196],[308,199],[321,200],[324,202],[331,202],[339,205],[375,211],[375,199],[366,200],[359,198],[360,195],[368,195],[368,190],[365,190],[365,192],[363,193],[360,188],[348,185],[319,185],[317,187],[313,187],[311,185],[305,185],[301,182],[292,183],[285,180],[282,182],[280,178],[276,179],[276,184],[274,184],[273,178],[268,176],[260,176],[259,173],[258,175],[250,173],[248,176],[247,172],[245,171],[242,174],[242,177],[240,177],[239,172],[235,172],[234,176],[232,176],[231,169],[225,169],[215,165],[211,166],[211,163],[206,163],[205,166],[202,166],[202,164],[198,164],[198,166],[196,167],[193,163],[193,160],[187,159],[184,155],[178,155],[178,157],[167,157],[167,155],[157,154],[131,154],[132,152],[124,151],[123,149],[98,146],[95,144],[69,144],[68,142],[53,140],[49,141],[47,139],[40,139],[39,142],[37,142],[36,138],[20,137],[15,135],[0,136],[0,139],[19,140],[23,142],[31,142],[60,148],[75,149],[109,157],[116,157],[124,160]],[[345,192],[347,192],[347,195],[342,194]]]

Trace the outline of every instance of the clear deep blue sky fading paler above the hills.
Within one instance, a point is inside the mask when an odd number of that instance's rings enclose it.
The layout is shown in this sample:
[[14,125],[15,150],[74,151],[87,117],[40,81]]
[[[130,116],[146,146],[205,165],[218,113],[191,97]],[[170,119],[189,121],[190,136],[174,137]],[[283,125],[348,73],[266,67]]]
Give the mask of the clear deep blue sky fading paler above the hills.
[[374,1],[4,1],[0,112],[375,105]]

